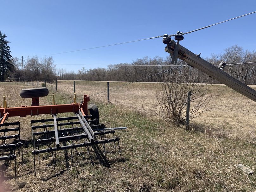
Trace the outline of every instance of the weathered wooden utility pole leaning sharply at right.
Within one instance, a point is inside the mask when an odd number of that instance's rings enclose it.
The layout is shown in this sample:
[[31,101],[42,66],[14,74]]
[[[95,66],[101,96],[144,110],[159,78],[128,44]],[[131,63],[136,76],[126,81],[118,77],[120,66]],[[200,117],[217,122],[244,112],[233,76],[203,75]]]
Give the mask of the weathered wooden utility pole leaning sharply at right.
[[[172,56],[175,46],[176,42],[171,40],[165,47],[165,51]],[[215,67],[208,61],[205,61],[199,55],[192,53],[181,45],[178,46],[178,58],[256,102],[256,91],[254,89],[230,76],[218,67]]]

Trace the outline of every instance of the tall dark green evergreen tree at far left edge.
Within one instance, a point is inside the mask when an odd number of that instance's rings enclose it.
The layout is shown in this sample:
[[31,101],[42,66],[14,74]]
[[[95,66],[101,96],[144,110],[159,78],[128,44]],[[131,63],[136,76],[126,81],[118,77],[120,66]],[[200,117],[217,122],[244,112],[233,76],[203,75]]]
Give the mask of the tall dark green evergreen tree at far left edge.
[[8,74],[9,71],[12,71],[12,56],[10,51],[10,46],[8,46],[9,41],[6,39],[6,35],[2,34],[0,31],[0,80],[4,80],[4,75]]

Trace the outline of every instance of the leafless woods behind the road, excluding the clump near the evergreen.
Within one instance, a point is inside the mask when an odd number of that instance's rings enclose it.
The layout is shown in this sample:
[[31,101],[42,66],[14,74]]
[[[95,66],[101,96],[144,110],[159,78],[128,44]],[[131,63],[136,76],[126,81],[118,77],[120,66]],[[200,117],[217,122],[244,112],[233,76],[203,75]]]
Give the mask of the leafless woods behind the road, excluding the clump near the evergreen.
[[[244,51],[242,47],[234,45],[224,49],[222,54],[211,54],[210,57],[205,59],[213,65],[219,65],[221,61],[225,61],[227,64],[253,62],[256,61],[256,52]],[[183,61],[179,61],[178,64],[186,65]],[[68,72],[66,69],[57,69],[56,76],[61,80],[135,81],[174,67],[168,65],[171,65],[170,56],[166,58],[158,56],[154,58],[144,57],[132,63],[109,65],[107,68],[86,69],[82,67],[77,73]],[[256,63],[230,65],[226,66],[223,70],[243,83],[256,84]],[[176,71],[179,71],[180,75],[195,77],[193,78],[194,81],[219,83],[207,74],[192,67],[180,67]],[[142,81],[160,82],[164,75],[166,74],[155,75]]]

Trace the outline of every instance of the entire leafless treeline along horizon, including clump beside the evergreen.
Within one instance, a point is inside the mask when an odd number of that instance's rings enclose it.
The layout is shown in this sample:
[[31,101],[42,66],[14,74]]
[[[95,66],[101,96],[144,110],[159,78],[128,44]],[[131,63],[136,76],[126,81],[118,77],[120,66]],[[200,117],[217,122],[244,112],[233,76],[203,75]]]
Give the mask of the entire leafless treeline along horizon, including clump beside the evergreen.
[[[218,65],[221,61],[227,64],[244,63],[256,61],[255,51],[244,51],[242,47],[234,45],[224,49],[222,54],[212,54],[205,58],[213,65]],[[144,57],[137,59],[132,63],[120,63],[118,65],[109,65],[107,68],[85,69],[84,67],[78,72],[68,72],[66,69],[55,69],[52,57],[39,59],[37,56],[27,57],[23,62],[22,71],[20,62],[16,65],[13,77],[20,77],[28,80],[47,80],[53,81],[55,78],[59,80],[95,80],[95,81],[135,81],[153,74],[173,68],[171,65],[171,57]],[[186,64],[179,61],[179,64]],[[139,65],[139,66],[138,66]],[[246,84],[256,84],[256,64],[242,64],[226,66],[224,71],[232,75],[236,79]],[[208,75],[192,67],[180,67],[171,73],[163,73],[155,75],[142,81],[159,82],[164,75],[184,75],[194,82],[203,83],[219,83]]]

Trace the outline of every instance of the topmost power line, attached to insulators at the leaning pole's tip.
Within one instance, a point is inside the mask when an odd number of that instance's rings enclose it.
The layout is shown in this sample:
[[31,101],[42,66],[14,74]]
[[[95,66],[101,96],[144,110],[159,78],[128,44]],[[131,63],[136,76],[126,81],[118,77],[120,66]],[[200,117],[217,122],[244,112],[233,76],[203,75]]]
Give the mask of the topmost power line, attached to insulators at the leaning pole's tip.
[[[247,13],[245,15],[241,15],[241,16],[238,16],[238,17],[234,17],[234,18],[231,18],[231,19],[228,19],[226,21],[222,21],[222,22],[218,22],[218,23],[215,23],[215,24],[212,24],[212,25],[208,25],[208,26],[205,26],[205,27],[202,27],[202,28],[199,28],[199,29],[195,29],[193,31],[188,31],[186,33],[181,33],[179,35],[186,35],[186,34],[189,34],[189,33],[193,33],[195,31],[199,31],[201,29],[205,29],[205,28],[208,28],[208,27],[211,27],[211,26],[214,26],[214,25],[218,25],[218,24],[221,24],[221,23],[224,23],[224,22],[227,22],[227,21],[231,21],[233,19],[237,19],[237,18],[240,18],[240,17],[243,17],[243,16],[247,16],[247,15],[250,15],[250,14],[253,14],[253,13],[256,13],[256,11],[254,12],[251,12],[251,13]],[[78,50],[74,50],[74,51],[66,51],[66,52],[61,52],[61,53],[54,53],[54,54],[47,54],[47,55],[43,55],[43,56],[49,56],[49,55],[56,55],[56,54],[64,54],[64,53],[72,53],[72,52],[77,52],[77,51],[83,51],[83,50],[89,50],[89,49],[96,49],[96,48],[103,48],[103,47],[109,47],[109,46],[114,46],[114,45],[121,45],[121,44],[125,44],[125,43],[131,43],[131,42],[138,42],[138,41],[144,41],[144,40],[149,40],[149,39],[155,39],[155,38],[160,38],[160,37],[163,37],[164,35],[160,35],[160,36],[156,36],[156,37],[150,37],[150,38],[145,38],[145,39],[139,39],[139,40],[134,40],[134,41],[128,41],[128,42],[122,42],[122,43],[115,43],[115,44],[110,44],[110,45],[104,45],[104,46],[99,46],[99,47],[92,47],[92,48],[85,48],[85,49],[78,49]],[[177,36],[177,34],[172,34],[170,35],[171,37],[172,36]]]

